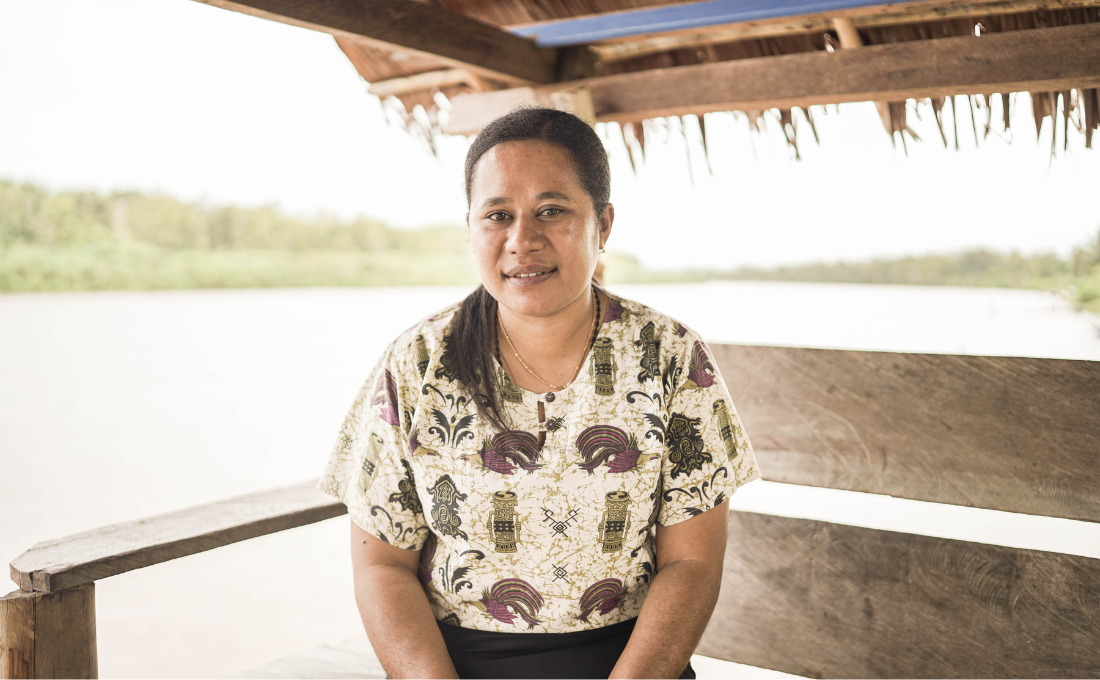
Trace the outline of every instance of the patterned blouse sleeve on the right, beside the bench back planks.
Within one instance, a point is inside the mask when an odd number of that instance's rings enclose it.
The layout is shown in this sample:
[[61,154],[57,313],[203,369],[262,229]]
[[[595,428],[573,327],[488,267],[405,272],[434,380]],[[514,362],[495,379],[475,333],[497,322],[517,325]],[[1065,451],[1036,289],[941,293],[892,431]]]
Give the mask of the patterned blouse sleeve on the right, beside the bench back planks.
[[[760,478],[752,445],[741,427],[711,348],[689,330],[673,359],[680,384],[669,399],[661,509],[670,526],[728,500],[738,486]],[[675,371],[673,371],[674,373]]]

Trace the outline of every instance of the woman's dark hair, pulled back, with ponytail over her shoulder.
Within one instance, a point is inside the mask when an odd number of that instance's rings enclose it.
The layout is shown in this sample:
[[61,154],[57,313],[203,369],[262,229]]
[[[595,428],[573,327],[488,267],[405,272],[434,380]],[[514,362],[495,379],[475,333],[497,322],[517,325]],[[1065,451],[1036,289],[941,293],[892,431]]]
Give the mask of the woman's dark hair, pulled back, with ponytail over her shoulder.
[[[612,174],[607,151],[587,123],[557,109],[519,108],[494,120],[474,139],[466,152],[466,206],[473,194],[474,171],[485,152],[505,142],[540,141],[564,150],[572,160],[581,186],[592,198],[598,219],[610,198]],[[497,375],[493,366],[496,349],[496,299],[477,286],[454,315],[448,351],[459,385],[473,398],[477,413],[498,430],[507,429],[501,417]]]

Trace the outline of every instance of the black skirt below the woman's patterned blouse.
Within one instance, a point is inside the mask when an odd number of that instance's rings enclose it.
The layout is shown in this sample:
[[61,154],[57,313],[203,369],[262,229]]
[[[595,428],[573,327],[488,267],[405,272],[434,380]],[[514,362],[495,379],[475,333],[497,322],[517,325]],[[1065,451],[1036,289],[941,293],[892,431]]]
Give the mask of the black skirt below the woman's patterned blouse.
[[[439,624],[460,678],[606,678],[637,618],[574,633],[494,633]],[[694,678],[691,663],[681,678]]]

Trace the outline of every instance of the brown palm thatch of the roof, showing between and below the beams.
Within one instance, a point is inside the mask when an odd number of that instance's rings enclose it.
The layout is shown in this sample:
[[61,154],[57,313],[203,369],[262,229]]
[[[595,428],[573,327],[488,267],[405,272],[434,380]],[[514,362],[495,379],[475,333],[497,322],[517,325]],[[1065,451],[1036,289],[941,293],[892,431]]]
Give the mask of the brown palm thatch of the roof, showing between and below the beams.
[[[669,0],[435,0],[435,3],[496,26],[510,30],[521,28],[528,33],[537,31],[540,22],[676,4]],[[862,8],[862,13],[847,12],[844,19],[848,19],[850,22],[848,25],[856,30],[862,45],[969,36],[976,32],[1002,33],[1100,22],[1100,7],[1066,7],[1074,4],[1069,2],[971,2],[965,7],[956,2],[915,4],[920,6],[916,8],[919,11],[884,13],[881,7],[870,7]],[[1023,11],[1011,11],[1022,6],[1034,7],[1026,7]],[[848,46],[843,45],[845,35],[838,28],[844,29],[837,26],[831,17],[804,15],[793,21],[741,22],[690,32],[674,31],[595,41],[586,43],[584,50],[594,57],[594,75],[612,75],[754,57],[833,52],[842,46]],[[404,55],[400,52],[375,50],[351,40],[338,39],[337,42],[363,78],[372,84],[372,91],[388,99],[393,110],[404,117],[413,131],[429,139],[438,132],[437,94],[452,99],[461,94],[509,87],[505,83],[454,69],[442,59],[433,61]],[[436,78],[435,81],[426,78],[421,87],[417,87],[415,80],[394,80],[418,74],[438,74],[447,77]],[[968,99],[959,103],[969,106],[971,110],[977,108],[988,112],[992,97],[1004,97],[1007,103],[1008,94],[988,92],[968,96]],[[1032,100],[1036,132],[1045,118],[1060,116],[1064,118],[1063,124],[1066,125],[1066,130],[1072,124],[1085,135],[1086,146],[1091,147],[1092,131],[1100,127],[1100,98],[1096,88],[1038,91],[1032,94]],[[942,120],[939,113],[944,106],[956,106],[954,99],[945,97],[931,98],[931,101],[937,120]],[[424,108],[431,129],[425,129],[410,116],[415,107]],[[902,142],[905,135],[915,139],[906,122],[904,101],[879,102],[879,110],[884,130],[891,136],[897,135]],[[1013,121],[1008,119],[1009,107],[1003,107],[1003,110],[1004,119],[997,122],[1007,129]],[[745,113],[754,127],[763,114],[762,111],[745,111]],[[805,109],[803,113],[812,125],[812,111]],[[777,109],[773,116],[782,124],[790,143],[796,145],[791,109]],[[622,130],[625,138],[632,138],[636,143],[644,146],[646,128],[648,125],[637,120],[625,122]],[[954,143],[957,146],[957,134],[953,138],[950,130],[943,129],[943,123],[941,123],[941,135],[945,145]]]

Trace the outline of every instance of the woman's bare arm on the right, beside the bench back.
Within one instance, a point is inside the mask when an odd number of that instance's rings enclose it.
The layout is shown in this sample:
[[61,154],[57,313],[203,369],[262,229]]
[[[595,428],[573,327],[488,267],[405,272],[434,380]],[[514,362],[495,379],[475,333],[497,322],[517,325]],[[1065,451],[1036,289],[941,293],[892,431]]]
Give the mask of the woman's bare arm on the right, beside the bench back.
[[657,575],[612,678],[679,678],[718,601],[729,505],[657,525]]

